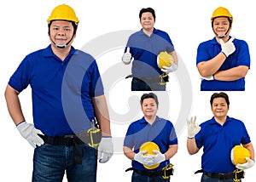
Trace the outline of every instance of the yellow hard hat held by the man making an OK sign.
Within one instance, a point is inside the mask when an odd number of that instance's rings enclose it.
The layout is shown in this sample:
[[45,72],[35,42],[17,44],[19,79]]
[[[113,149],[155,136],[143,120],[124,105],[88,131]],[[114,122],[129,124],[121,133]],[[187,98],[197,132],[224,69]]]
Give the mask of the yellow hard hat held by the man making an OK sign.
[[242,147],[241,145],[236,145],[231,150],[231,161],[234,165],[238,163],[245,163],[247,162],[246,157],[250,157],[250,152],[247,148]]

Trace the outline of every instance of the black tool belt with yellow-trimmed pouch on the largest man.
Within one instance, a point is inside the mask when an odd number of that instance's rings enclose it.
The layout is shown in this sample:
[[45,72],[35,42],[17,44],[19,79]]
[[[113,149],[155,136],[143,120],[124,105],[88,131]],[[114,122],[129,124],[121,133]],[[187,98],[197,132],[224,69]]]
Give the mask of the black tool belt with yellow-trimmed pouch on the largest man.
[[97,147],[102,139],[102,133],[100,129],[88,129],[80,134],[67,134],[64,136],[50,137],[47,135],[38,134],[45,144],[50,145],[65,145],[75,146],[75,162],[82,164],[82,152],[79,149],[79,145],[86,144],[91,147]]

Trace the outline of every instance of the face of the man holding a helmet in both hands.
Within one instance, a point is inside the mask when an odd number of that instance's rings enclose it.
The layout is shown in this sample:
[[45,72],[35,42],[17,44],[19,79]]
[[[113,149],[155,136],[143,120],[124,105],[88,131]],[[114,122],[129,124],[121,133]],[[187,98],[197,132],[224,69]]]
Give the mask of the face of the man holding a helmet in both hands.
[[157,109],[157,104],[153,98],[147,98],[143,100],[142,110],[144,117],[155,117]]

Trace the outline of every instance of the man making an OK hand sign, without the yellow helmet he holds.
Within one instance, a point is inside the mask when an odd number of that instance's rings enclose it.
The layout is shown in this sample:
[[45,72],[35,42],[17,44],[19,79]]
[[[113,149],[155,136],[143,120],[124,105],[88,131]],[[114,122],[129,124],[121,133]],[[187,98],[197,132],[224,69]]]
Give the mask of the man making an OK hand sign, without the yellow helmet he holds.
[[[201,156],[202,182],[231,182],[236,176],[241,179],[243,171],[253,167],[254,150],[253,144],[247,134],[243,122],[228,117],[230,100],[227,94],[214,93],[210,100],[212,106],[212,119],[201,123],[195,122],[195,117],[188,120],[187,147],[190,155],[204,148]],[[232,163],[230,153],[234,146],[242,145],[249,153],[247,162],[236,166]],[[235,176],[236,174],[236,176]]]

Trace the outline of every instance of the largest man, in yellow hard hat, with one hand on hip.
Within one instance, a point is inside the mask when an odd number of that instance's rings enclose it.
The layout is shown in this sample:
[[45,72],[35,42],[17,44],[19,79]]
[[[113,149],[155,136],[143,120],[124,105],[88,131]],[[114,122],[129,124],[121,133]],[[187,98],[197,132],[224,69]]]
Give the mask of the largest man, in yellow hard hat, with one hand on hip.
[[[64,173],[68,181],[96,181],[97,154],[99,162],[108,162],[113,153],[96,60],[71,46],[78,24],[71,7],[55,7],[48,19],[50,45],[26,55],[5,91],[10,116],[35,148],[35,182],[61,181]],[[28,85],[33,124],[26,122],[19,100]]]

